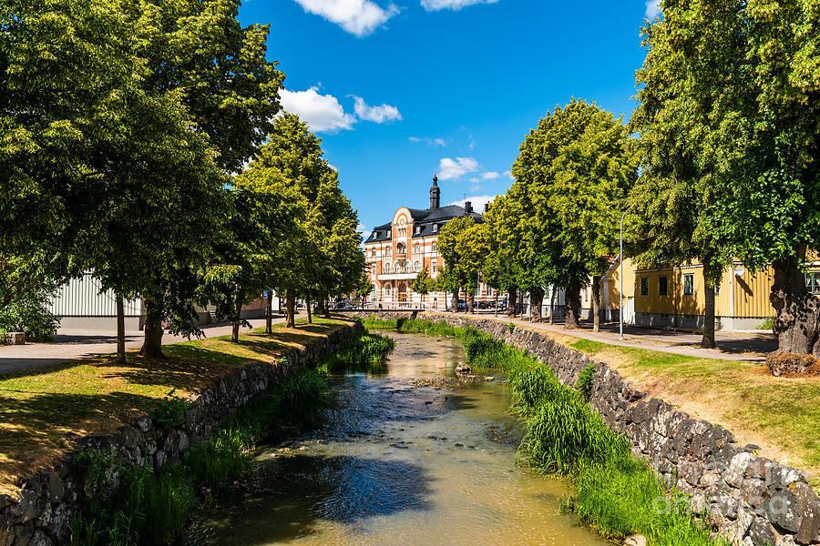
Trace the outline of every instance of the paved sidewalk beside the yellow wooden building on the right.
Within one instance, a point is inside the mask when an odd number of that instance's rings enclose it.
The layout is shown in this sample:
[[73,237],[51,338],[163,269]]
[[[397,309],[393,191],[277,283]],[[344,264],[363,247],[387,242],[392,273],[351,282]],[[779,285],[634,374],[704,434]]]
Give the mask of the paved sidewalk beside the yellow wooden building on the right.
[[[442,311],[437,312],[443,314]],[[510,319],[501,314],[496,317],[492,312],[477,313],[475,315],[465,313],[454,314],[452,312],[446,314],[462,317],[466,315],[479,319],[497,319],[503,322],[513,322],[528,328],[543,329],[573,338],[600,341],[601,343],[618,345],[620,347],[657,350],[700,359],[743,360],[746,362],[764,363],[766,353],[777,349],[777,340],[774,339],[774,334],[767,330],[761,330],[760,332],[716,331],[714,338],[718,348],[701,349],[702,334],[690,331],[624,326],[624,340],[621,341],[618,339],[619,325],[617,322],[601,324],[600,332],[592,332],[592,324],[589,321],[583,321],[580,329],[564,329],[563,321],[556,321],[556,324],[553,325],[546,322],[533,324],[530,323],[528,319]]]

